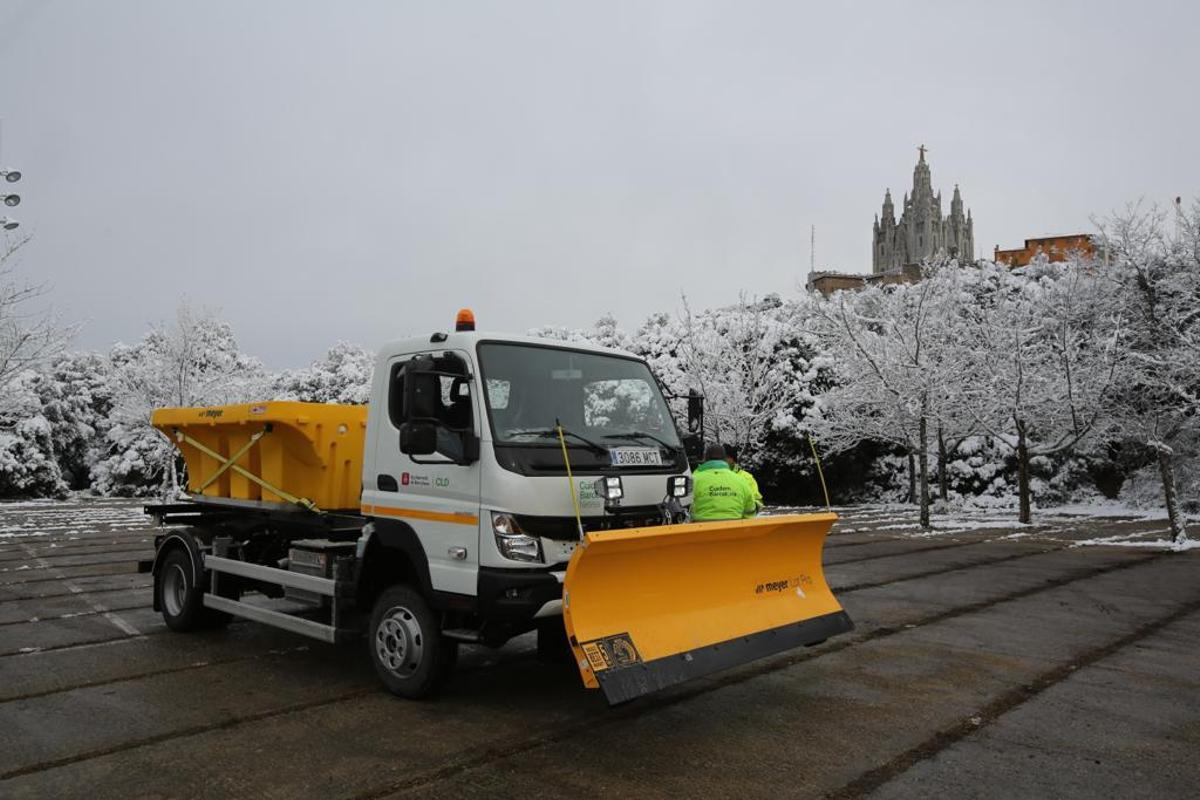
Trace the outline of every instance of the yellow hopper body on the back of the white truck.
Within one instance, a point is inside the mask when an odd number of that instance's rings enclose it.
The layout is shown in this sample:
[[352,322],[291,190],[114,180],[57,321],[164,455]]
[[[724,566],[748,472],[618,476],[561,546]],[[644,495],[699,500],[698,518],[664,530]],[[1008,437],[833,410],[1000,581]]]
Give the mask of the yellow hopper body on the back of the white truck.
[[150,422],[184,455],[192,494],[323,511],[359,507],[366,405],[161,408]]

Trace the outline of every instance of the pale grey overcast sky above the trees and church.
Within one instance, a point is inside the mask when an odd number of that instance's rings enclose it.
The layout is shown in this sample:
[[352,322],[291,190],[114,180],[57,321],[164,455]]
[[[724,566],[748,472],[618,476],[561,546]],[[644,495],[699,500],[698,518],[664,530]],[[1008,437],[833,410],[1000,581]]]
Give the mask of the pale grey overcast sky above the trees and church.
[[0,163],[76,345],[182,295],[300,366],[636,326],[870,271],[883,191],[976,243],[1200,193],[1200,4],[0,0]]

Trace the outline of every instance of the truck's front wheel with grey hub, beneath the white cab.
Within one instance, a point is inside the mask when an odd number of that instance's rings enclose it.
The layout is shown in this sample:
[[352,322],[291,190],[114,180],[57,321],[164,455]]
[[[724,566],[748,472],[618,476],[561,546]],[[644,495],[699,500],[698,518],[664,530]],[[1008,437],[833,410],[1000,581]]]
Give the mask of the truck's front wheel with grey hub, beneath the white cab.
[[442,636],[425,597],[404,584],[384,590],[376,600],[367,645],[383,685],[409,699],[434,694],[458,655],[458,643]]

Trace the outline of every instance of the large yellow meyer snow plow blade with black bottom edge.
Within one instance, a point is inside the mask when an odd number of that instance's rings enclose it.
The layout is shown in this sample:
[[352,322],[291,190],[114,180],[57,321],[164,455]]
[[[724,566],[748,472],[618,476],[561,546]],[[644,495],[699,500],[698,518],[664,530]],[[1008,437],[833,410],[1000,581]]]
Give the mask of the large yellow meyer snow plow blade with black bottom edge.
[[590,533],[563,620],[584,686],[610,703],[853,628],[826,584],[835,513]]

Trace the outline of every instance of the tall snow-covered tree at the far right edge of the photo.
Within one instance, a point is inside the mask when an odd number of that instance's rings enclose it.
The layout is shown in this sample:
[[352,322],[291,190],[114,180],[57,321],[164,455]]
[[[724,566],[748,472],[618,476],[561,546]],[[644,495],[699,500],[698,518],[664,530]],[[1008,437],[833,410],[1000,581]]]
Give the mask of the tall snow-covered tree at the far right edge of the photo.
[[1128,319],[1112,431],[1153,451],[1171,533],[1182,542],[1176,464],[1195,457],[1200,439],[1200,201],[1171,213],[1133,205],[1100,229],[1106,275]]

